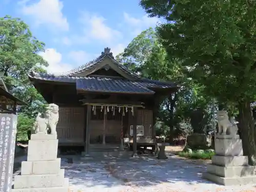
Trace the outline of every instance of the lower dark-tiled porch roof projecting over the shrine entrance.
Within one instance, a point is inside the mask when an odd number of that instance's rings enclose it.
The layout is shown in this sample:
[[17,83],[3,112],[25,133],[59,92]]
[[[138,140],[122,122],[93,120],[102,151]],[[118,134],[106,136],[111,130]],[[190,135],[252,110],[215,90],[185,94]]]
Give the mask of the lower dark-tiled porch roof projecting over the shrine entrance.
[[126,79],[99,77],[76,79],[76,89],[112,93],[155,93],[154,91],[147,89],[141,82],[130,81]]

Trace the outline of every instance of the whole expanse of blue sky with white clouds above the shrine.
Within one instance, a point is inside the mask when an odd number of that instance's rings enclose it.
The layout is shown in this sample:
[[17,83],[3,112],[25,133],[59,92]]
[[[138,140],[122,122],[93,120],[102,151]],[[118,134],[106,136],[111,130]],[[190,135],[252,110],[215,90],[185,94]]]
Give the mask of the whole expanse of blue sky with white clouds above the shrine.
[[139,0],[2,0],[0,12],[22,18],[46,44],[48,72],[64,72],[110,47],[114,55],[142,30],[155,27]]

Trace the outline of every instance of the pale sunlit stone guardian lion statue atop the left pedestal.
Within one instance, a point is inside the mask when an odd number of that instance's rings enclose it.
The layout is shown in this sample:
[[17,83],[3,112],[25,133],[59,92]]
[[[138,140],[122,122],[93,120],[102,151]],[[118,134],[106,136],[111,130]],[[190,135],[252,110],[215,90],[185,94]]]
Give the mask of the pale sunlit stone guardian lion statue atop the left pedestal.
[[49,104],[45,113],[38,113],[35,121],[35,132],[47,134],[47,129],[50,129],[50,134],[57,134],[56,125],[59,120],[58,105]]

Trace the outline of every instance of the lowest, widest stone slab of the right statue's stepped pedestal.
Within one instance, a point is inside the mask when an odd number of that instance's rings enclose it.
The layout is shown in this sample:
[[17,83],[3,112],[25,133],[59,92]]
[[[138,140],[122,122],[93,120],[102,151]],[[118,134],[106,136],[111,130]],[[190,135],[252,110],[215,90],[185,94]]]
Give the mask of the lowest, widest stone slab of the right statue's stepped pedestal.
[[221,184],[221,185],[247,185],[256,182],[256,176],[245,176],[245,177],[220,177],[208,172],[204,172],[202,175],[203,179]]

